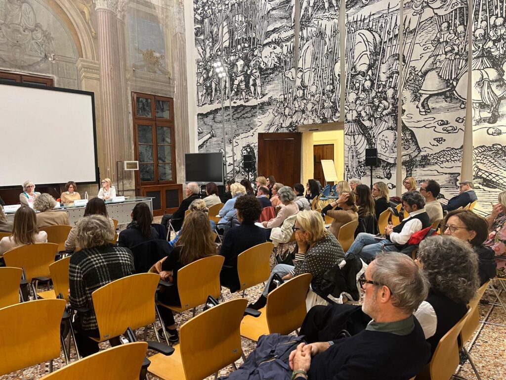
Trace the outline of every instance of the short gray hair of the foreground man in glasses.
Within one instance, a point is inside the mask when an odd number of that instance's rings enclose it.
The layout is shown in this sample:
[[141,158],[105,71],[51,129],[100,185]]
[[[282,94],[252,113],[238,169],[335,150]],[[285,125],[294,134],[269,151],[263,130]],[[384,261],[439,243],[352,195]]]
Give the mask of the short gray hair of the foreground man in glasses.
[[388,286],[394,301],[392,305],[413,313],[429,294],[429,280],[418,265],[399,252],[378,253],[371,268],[371,279]]

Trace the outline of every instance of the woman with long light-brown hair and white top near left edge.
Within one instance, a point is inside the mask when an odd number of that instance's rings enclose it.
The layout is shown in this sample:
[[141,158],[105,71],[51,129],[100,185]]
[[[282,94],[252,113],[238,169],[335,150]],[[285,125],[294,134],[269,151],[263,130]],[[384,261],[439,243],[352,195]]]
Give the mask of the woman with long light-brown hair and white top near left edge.
[[0,240],[0,256],[9,249],[22,245],[47,242],[48,234],[45,231],[38,231],[35,211],[23,205],[14,214],[12,234]]

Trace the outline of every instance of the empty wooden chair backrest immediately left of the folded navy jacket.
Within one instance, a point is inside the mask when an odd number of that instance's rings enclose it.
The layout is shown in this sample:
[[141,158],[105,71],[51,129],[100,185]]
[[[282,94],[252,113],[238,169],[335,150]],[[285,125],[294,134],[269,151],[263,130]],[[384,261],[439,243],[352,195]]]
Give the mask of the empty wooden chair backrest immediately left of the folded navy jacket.
[[240,325],[247,300],[221,303],[190,319],[180,329],[186,380],[201,380],[241,357]]

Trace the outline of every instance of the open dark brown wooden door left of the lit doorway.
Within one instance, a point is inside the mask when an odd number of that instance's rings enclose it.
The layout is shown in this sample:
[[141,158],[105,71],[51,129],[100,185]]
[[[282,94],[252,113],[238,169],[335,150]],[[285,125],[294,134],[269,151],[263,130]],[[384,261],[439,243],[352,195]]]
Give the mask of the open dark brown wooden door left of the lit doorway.
[[301,133],[259,133],[258,175],[287,186],[301,181]]

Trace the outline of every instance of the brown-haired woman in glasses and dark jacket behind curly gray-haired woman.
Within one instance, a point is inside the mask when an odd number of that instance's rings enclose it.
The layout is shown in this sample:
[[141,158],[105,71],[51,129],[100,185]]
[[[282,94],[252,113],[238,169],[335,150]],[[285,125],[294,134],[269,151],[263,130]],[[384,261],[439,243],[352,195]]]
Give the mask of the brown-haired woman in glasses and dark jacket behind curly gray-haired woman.
[[494,278],[497,269],[494,251],[483,244],[488,236],[487,227],[485,218],[470,210],[450,211],[443,220],[444,234],[470,243],[478,255],[480,285]]

